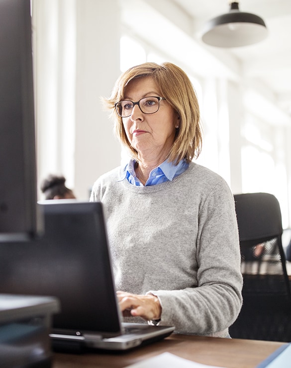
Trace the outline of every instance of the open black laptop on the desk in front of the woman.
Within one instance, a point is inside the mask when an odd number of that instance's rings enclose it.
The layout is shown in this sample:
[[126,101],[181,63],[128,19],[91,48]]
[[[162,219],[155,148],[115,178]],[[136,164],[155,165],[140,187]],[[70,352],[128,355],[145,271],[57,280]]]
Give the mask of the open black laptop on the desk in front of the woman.
[[125,323],[118,307],[100,202],[38,203],[45,233],[0,243],[0,293],[56,296],[56,349],[127,350],[169,336],[174,326]]

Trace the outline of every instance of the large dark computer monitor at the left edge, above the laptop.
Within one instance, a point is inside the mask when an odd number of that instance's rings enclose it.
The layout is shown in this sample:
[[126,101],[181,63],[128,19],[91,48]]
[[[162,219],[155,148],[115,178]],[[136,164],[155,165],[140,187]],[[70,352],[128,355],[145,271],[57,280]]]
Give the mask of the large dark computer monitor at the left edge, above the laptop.
[[0,0],[0,240],[41,229],[31,38],[30,0]]

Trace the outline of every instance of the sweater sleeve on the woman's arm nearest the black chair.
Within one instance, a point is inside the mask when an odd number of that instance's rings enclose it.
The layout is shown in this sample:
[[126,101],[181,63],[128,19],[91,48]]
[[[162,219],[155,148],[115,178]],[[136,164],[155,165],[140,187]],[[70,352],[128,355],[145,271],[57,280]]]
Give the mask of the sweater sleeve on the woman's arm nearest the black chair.
[[242,275],[234,200],[224,180],[201,203],[198,217],[197,287],[149,293],[160,299],[160,324],[225,337],[241,308]]

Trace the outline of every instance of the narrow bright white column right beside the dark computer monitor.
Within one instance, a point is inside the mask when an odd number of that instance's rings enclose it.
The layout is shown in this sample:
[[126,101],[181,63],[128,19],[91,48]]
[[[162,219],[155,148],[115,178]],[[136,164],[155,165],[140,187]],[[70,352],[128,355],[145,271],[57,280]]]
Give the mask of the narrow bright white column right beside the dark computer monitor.
[[33,1],[33,62],[38,179],[57,171],[58,1]]

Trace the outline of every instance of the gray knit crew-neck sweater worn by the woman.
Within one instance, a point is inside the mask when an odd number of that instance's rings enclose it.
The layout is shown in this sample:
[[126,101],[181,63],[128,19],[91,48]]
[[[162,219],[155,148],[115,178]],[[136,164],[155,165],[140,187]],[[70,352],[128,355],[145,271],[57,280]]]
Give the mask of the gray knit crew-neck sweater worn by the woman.
[[228,185],[194,162],[153,186],[118,181],[121,174],[118,167],[102,175],[91,195],[104,205],[116,289],[157,295],[160,324],[178,333],[226,337],[242,303]]

